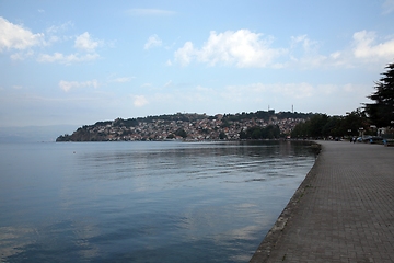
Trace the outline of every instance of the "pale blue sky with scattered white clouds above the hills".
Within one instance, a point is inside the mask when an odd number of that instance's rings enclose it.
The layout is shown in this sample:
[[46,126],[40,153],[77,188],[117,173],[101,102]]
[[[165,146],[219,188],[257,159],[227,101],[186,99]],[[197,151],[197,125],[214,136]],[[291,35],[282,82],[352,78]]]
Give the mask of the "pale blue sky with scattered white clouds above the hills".
[[394,0],[0,0],[0,127],[346,115],[394,62]]

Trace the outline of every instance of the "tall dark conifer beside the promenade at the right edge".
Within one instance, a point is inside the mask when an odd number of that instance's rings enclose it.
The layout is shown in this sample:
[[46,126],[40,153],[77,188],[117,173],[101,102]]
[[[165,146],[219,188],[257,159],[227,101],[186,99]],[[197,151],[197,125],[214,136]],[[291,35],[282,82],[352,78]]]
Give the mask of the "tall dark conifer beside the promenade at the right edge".
[[364,104],[371,123],[378,127],[394,126],[394,64],[385,68],[386,72],[375,82],[375,92],[368,96],[374,103]]

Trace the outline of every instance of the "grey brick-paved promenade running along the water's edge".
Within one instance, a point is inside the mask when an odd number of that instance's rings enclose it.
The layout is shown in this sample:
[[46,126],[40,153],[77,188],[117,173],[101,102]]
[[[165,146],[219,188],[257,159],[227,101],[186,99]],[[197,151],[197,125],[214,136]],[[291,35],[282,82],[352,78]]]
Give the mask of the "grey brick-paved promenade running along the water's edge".
[[394,262],[394,147],[322,152],[251,262]]

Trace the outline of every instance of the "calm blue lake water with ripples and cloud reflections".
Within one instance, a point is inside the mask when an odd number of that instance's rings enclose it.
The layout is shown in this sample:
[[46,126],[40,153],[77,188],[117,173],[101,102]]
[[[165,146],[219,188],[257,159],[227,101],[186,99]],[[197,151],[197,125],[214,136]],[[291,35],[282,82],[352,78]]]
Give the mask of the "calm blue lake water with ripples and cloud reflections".
[[303,142],[0,145],[1,262],[247,262]]

